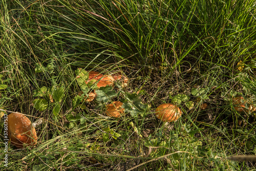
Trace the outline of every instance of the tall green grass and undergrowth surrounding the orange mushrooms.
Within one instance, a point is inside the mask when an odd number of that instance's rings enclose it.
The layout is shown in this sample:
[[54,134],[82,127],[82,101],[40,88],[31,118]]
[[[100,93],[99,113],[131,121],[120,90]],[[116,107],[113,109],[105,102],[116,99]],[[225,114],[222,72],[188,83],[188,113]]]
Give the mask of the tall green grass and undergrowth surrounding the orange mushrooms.
[[[256,149],[255,113],[231,102],[255,102],[255,9],[252,0],[1,0],[0,108],[47,120],[36,147],[9,145],[1,170],[254,170],[227,157]],[[78,68],[121,71],[129,86],[84,103]],[[181,94],[194,107],[183,100],[181,119],[158,120],[157,106]],[[120,120],[104,117],[115,100],[126,102]],[[3,158],[3,134],[0,146]]]

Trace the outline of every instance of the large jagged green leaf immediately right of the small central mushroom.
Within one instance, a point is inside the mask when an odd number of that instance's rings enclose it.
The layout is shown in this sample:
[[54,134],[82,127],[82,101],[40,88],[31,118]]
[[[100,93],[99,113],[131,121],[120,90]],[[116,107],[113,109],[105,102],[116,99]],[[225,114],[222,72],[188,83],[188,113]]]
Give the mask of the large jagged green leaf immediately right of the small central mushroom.
[[125,113],[130,113],[133,117],[137,116],[138,113],[143,113],[147,108],[147,104],[142,104],[136,93],[129,94],[126,97],[127,102],[123,103]]

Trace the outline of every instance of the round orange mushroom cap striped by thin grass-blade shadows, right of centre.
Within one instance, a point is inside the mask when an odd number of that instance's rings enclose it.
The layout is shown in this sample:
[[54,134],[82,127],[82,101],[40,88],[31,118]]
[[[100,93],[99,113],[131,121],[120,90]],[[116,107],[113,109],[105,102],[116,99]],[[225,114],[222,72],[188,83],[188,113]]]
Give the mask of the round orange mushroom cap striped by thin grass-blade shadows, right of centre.
[[181,110],[178,106],[171,103],[164,103],[157,107],[156,117],[164,122],[176,121],[181,117]]

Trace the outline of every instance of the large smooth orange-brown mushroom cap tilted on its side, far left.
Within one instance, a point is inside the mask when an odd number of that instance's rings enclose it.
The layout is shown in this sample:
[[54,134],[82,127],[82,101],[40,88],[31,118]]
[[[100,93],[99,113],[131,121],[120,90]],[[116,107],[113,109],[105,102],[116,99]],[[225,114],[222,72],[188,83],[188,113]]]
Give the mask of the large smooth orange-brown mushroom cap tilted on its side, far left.
[[23,114],[11,113],[8,115],[8,137],[11,144],[18,148],[33,146],[37,143],[35,128]]

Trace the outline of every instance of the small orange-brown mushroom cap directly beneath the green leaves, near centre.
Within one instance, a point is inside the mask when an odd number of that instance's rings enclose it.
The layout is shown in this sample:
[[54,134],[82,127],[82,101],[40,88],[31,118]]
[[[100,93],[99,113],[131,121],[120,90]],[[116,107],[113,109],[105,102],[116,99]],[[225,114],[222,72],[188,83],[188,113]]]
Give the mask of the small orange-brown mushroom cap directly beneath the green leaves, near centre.
[[124,113],[121,101],[114,101],[106,106],[106,115],[114,118],[120,118],[121,114]]

